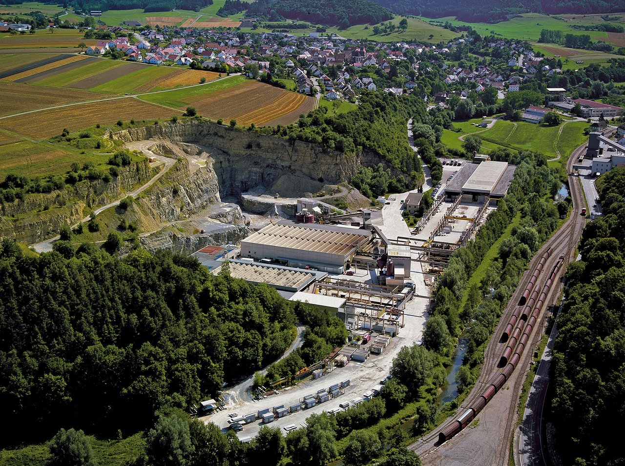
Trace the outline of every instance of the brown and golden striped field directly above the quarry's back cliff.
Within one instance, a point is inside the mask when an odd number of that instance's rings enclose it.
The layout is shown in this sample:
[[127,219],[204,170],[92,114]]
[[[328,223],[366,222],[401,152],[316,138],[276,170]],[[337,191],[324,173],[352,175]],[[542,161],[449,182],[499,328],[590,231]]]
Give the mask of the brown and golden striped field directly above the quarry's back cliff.
[[242,76],[141,98],[179,110],[193,106],[197,114],[213,120],[236,119],[237,124],[253,122],[258,126],[294,122],[299,114],[311,111],[314,106],[312,97],[250,81]]

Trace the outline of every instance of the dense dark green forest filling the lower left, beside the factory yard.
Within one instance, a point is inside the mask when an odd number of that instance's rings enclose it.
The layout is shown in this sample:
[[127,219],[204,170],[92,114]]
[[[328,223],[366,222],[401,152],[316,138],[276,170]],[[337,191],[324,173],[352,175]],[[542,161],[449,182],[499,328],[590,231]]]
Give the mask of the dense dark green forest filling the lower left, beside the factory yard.
[[282,355],[298,319],[315,322],[306,360],[346,339],[340,320],[294,309],[266,285],[209,275],[191,257],[66,249],[0,247],[3,442],[67,425],[133,432],[163,406],[188,411]]

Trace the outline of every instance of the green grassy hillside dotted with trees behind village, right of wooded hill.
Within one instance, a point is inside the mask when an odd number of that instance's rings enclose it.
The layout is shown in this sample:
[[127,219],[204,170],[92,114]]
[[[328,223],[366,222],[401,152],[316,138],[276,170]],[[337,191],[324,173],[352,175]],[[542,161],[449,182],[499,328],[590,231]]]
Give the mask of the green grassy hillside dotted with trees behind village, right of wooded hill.
[[[402,17],[396,16],[391,20],[393,24],[399,26],[399,21]],[[338,27],[329,27],[327,31],[334,32],[341,37],[347,39],[371,39],[372,41],[379,42],[396,42],[396,41],[426,41],[426,42],[439,42],[449,41],[454,37],[459,37],[460,33],[449,31],[444,27],[432,26],[422,19],[416,17],[409,17],[408,27],[406,31],[398,31],[397,29],[389,34],[373,35],[373,26],[368,24],[359,24],[358,26],[351,26],[347,29],[338,29]],[[387,21],[388,22],[388,21]],[[430,37],[432,36],[432,37]]]

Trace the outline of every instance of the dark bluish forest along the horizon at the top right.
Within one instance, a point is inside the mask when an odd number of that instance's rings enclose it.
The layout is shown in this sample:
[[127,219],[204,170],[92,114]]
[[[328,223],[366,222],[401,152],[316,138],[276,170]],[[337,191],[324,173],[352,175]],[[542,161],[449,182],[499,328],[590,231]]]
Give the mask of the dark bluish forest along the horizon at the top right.
[[464,0],[450,0],[437,2],[435,0],[374,0],[382,6],[399,14],[416,14],[432,18],[455,16],[461,21],[469,22],[499,22],[526,12],[546,14],[562,13],[601,13],[617,12],[622,9],[617,2],[605,0],[486,0],[482,2],[467,2]]

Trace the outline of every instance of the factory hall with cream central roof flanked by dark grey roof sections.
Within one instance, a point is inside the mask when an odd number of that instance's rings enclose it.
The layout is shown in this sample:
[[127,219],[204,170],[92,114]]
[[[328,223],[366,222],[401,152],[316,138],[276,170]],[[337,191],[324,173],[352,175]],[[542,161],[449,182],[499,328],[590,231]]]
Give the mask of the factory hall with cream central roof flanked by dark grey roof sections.
[[445,186],[448,198],[462,196],[464,202],[484,202],[501,199],[514,177],[516,166],[507,162],[484,161],[464,164],[456,176]]

